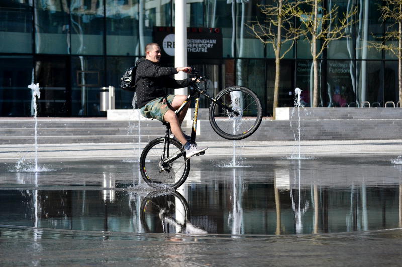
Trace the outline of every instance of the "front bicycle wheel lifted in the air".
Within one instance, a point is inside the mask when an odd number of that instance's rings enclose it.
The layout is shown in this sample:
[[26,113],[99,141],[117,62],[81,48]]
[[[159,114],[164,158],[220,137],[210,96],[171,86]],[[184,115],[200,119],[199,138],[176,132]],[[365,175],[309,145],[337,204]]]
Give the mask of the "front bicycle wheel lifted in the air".
[[[229,140],[240,140],[252,135],[260,126],[262,120],[261,102],[258,96],[250,89],[242,86],[225,88],[215,97],[209,110],[212,129]],[[234,112],[221,107],[217,102],[224,104]]]

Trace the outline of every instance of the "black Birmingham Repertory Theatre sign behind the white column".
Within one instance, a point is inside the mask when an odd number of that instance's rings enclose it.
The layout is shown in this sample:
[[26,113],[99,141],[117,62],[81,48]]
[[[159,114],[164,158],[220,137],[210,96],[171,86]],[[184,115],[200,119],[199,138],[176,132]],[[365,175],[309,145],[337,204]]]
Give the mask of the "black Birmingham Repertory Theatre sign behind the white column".
[[[162,56],[174,56],[174,27],[154,27],[154,42],[161,47]],[[220,28],[187,28],[189,58],[222,58]]]

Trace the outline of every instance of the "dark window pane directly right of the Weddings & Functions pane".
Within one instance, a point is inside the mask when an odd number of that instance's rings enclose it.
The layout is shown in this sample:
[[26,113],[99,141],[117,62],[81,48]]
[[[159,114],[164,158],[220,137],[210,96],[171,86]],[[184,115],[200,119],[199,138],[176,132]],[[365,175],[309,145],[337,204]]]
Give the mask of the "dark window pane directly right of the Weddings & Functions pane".
[[[383,84],[384,73],[381,61],[358,61],[357,74],[359,104],[364,101],[370,102],[371,106],[383,107]],[[378,104],[379,103],[379,104]]]

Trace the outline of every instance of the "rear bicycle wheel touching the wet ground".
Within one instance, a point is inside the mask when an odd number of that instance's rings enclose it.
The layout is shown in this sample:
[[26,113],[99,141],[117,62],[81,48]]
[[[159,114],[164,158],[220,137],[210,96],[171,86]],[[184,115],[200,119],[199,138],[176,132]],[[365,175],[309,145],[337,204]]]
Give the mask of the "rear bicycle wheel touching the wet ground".
[[[190,160],[185,153],[174,161],[163,163],[163,159],[178,155],[184,151],[183,146],[168,138],[152,140],[142,151],[140,157],[140,172],[144,181],[154,188],[176,189],[184,183],[190,172]],[[163,158],[163,155],[165,157]]]

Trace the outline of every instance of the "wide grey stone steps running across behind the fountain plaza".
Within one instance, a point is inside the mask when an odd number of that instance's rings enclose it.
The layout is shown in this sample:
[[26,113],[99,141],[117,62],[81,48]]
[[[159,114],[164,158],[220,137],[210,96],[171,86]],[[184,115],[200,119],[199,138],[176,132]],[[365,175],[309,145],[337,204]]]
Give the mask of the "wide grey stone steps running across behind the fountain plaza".
[[[402,118],[402,116],[400,117]],[[141,121],[141,141],[147,142],[165,133],[158,121]],[[18,127],[21,125],[22,127]],[[137,122],[127,121],[41,121],[39,144],[56,143],[131,143],[139,140]],[[190,122],[183,129],[190,133]],[[12,126],[10,128],[10,126]],[[28,127],[28,126],[32,126]],[[0,119],[0,144],[33,144],[34,128],[28,119],[17,122]],[[197,141],[228,141],[216,134],[208,120],[198,121]],[[9,128],[7,128],[9,127]],[[301,120],[302,140],[378,140],[402,139],[402,119],[322,119]],[[259,129],[247,141],[289,141],[298,136],[298,121],[264,118]],[[241,142],[241,141],[240,141]]]

